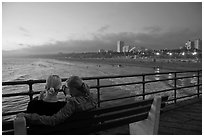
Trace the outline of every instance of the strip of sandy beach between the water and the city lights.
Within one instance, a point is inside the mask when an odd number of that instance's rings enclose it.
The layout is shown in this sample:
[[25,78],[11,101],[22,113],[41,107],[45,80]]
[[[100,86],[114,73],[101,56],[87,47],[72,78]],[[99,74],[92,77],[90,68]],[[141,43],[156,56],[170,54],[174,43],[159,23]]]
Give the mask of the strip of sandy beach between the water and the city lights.
[[70,62],[82,62],[82,63],[93,63],[93,64],[108,64],[108,65],[120,65],[120,66],[134,66],[134,67],[145,67],[154,68],[160,67],[161,69],[173,70],[173,71],[188,71],[188,70],[202,70],[202,63],[193,62],[165,62],[162,60],[143,61],[134,59],[109,59],[109,58],[54,58],[61,61]]

